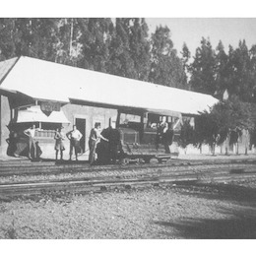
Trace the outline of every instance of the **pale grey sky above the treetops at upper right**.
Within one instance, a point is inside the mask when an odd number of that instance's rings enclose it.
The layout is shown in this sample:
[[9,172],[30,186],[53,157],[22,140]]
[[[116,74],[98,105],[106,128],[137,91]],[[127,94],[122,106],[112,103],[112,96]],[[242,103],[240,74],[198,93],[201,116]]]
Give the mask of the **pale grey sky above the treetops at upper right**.
[[146,21],[150,32],[155,32],[157,26],[166,25],[174,48],[180,52],[185,41],[193,56],[202,36],[209,37],[214,48],[222,40],[225,51],[229,44],[236,48],[240,39],[245,39],[248,48],[256,44],[255,18],[148,18]]

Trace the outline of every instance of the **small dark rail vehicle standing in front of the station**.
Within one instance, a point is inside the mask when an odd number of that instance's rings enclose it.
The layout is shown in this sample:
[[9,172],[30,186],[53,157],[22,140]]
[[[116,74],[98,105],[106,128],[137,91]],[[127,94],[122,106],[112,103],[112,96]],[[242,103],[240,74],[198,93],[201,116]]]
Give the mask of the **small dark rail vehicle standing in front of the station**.
[[[177,127],[178,118],[171,116],[164,118],[169,121],[168,123],[175,123],[175,128]],[[102,131],[102,135],[109,140],[109,143],[101,141],[97,145],[98,162],[107,163],[116,160],[123,163],[130,161],[150,162],[152,159],[161,162],[171,159],[171,155],[178,155],[177,151],[166,152],[166,146],[163,145],[165,142],[159,133],[162,119],[163,116],[160,114],[118,111],[115,122],[116,128],[109,125],[109,128]],[[175,129],[168,147],[172,141],[173,143],[178,142],[179,134],[179,130]]]

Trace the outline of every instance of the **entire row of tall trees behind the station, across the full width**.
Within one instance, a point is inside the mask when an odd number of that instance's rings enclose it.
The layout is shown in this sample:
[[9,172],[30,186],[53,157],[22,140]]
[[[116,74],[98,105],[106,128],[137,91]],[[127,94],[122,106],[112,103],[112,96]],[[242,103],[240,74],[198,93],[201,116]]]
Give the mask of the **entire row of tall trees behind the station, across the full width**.
[[167,27],[149,34],[140,18],[0,19],[0,60],[31,56],[221,98],[256,102],[256,45],[227,52],[202,37],[193,57],[177,55]]

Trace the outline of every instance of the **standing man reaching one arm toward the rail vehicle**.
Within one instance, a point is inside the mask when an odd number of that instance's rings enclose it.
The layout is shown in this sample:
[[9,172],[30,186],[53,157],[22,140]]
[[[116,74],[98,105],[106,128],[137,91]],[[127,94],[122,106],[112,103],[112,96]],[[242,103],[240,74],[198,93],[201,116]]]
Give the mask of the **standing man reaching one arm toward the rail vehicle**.
[[100,134],[100,123],[96,123],[95,128],[93,128],[91,130],[90,138],[89,138],[89,149],[90,149],[89,162],[90,162],[90,164],[93,164],[96,160],[96,145],[99,143],[100,139],[108,142],[108,140]]

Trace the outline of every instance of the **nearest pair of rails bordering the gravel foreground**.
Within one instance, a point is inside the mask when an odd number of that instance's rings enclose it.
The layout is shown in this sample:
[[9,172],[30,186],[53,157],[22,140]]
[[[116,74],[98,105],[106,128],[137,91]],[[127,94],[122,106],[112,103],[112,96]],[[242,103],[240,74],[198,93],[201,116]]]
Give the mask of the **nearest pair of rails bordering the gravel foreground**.
[[231,172],[232,168],[226,167],[224,169],[212,168],[211,171],[194,172],[190,171],[183,173],[175,172],[161,172],[157,175],[147,176],[123,176],[123,177],[92,177],[91,179],[80,180],[54,180],[47,182],[29,182],[29,183],[13,183],[1,184],[0,195],[2,196],[20,196],[20,195],[34,195],[42,192],[50,191],[68,191],[74,193],[90,192],[90,191],[104,191],[110,188],[131,188],[137,186],[151,186],[166,183],[178,182],[225,182],[235,180],[256,180],[255,166],[247,166],[240,172]]

